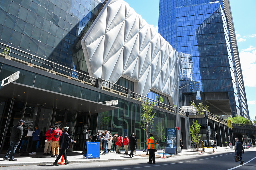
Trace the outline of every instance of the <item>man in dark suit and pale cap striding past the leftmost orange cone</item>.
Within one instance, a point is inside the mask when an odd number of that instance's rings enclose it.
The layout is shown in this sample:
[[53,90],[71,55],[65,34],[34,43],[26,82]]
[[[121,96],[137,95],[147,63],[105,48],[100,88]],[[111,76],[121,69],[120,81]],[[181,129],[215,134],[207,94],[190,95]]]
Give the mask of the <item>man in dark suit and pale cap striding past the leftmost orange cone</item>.
[[67,159],[67,149],[69,149],[69,144],[71,142],[76,143],[77,141],[70,139],[70,136],[68,134],[68,130],[69,127],[64,127],[64,132],[61,134],[60,138],[59,138],[59,145],[60,145],[60,154],[57,156],[57,158],[55,159],[55,162],[53,163],[53,166],[59,166],[58,164],[58,160],[61,158],[61,156],[63,155],[63,158],[65,160],[65,165],[69,164],[70,161],[68,161]]

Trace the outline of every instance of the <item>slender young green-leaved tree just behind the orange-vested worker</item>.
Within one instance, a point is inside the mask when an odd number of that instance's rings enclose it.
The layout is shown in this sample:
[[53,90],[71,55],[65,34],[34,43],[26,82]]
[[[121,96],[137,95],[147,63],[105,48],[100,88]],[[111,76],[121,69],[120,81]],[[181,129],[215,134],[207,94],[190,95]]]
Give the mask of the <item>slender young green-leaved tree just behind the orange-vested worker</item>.
[[[146,140],[148,139],[148,132],[153,128],[152,123],[154,121],[154,114],[152,114],[153,110],[153,104],[148,101],[144,100],[142,101],[142,111],[143,113],[140,113],[140,126],[141,129],[143,129],[146,132]],[[146,155],[148,155],[148,150]]]

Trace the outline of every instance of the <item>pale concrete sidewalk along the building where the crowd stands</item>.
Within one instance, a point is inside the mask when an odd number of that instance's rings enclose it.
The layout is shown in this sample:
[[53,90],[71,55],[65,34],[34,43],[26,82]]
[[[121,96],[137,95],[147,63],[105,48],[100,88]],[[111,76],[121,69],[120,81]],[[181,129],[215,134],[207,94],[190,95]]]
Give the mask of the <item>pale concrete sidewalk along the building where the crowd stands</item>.
[[[233,147],[234,148],[234,147]],[[220,151],[226,151],[226,150],[232,150],[229,147],[218,147],[217,149],[214,149],[214,152],[220,152]],[[206,153],[212,153],[213,148],[205,148]],[[134,155],[133,158],[130,158],[129,155],[123,154],[117,154],[116,152],[109,152],[106,155],[100,155],[99,158],[83,158],[83,154],[81,152],[67,152],[67,157],[68,160],[71,161],[71,163],[86,163],[86,162],[109,162],[109,161],[122,161],[122,160],[139,160],[139,159],[146,159],[148,160],[148,156],[142,157],[142,156],[137,156],[137,155],[145,155],[146,152],[143,151],[136,151],[136,154]],[[129,151],[128,151],[129,153]],[[183,149],[181,153],[178,155],[170,155],[170,154],[165,154],[165,157],[176,157],[176,156],[181,156],[181,155],[193,155],[193,154],[201,154],[201,152],[190,152],[189,149]],[[161,158],[163,155],[162,150],[158,150],[155,152],[156,158]],[[23,166],[23,165],[52,165],[56,159],[51,158],[50,156],[43,156],[43,153],[38,153],[37,155],[33,156],[20,156],[15,154],[14,158],[18,159],[17,161],[7,161],[3,160],[4,154],[0,155],[0,167],[1,166]],[[61,161],[61,159],[59,160]]]

